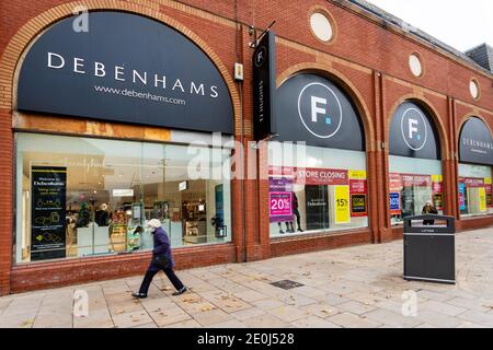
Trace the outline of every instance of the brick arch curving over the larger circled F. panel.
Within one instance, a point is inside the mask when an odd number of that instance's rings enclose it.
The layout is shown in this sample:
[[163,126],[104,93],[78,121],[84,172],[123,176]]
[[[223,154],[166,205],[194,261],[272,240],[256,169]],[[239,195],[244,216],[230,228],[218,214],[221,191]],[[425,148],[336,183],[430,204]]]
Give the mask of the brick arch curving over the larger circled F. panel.
[[366,105],[365,100],[363,98],[363,94],[357,90],[356,85],[354,85],[353,82],[340,71],[323,63],[317,62],[298,63],[289,67],[277,77],[276,80],[277,88],[279,88],[287,79],[295,75],[296,73],[303,73],[303,72],[305,73],[312,72],[329,79],[333,79],[341,85],[341,88],[343,88],[343,91],[349,95],[352,102],[355,104],[359,114],[359,118],[363,122],[364,128],[363,132],[365,133],[366,151],[367,152],[375,151],[375,142],[372,142],[372,140],[375,139],[375,129],[371,122],[371,115],[368,109],[368,106]]

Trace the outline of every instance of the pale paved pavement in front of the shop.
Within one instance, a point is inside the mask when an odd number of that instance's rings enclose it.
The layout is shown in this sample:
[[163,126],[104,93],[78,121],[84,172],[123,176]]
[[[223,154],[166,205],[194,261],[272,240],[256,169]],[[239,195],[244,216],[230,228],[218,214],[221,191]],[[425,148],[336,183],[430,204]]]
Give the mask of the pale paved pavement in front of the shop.
[[393,242],[179,271],[192,290],[177,298],[163,275],[145,301],[130,298],[141,277],[9,295],[0,327],[493,327],[493,229],[456,245],[457,285],[403,281]]

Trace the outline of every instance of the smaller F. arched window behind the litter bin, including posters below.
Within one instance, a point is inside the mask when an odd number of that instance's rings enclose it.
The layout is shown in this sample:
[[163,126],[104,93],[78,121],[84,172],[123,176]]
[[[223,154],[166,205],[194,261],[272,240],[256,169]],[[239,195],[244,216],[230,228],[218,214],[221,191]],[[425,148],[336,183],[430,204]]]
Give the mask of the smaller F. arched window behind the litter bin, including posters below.
[[406,101],[389,130],[390,214],[393,224],[422,214],[427,201],[443,212],[439,138],[429,114]]

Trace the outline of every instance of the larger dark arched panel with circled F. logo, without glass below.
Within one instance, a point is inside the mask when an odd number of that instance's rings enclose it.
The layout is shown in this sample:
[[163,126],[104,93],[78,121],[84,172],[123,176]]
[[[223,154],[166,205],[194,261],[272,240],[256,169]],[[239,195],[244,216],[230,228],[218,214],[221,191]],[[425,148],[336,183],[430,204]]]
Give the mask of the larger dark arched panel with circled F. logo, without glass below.
[[279,88],[274,132],[279,141],[365,150],[356,108],[341,89],[316,74],[297,74]]

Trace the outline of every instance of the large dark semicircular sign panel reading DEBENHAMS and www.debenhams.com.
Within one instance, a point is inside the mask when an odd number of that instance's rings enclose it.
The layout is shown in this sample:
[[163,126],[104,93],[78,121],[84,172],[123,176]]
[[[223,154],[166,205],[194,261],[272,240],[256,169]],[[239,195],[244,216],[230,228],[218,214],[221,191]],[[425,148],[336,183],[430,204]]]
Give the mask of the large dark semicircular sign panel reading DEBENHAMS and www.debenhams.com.
[[233,133],[233,108],[216,66],[193,42],[148,18],[89,13],[50,26],[27,52],[18,109]]

